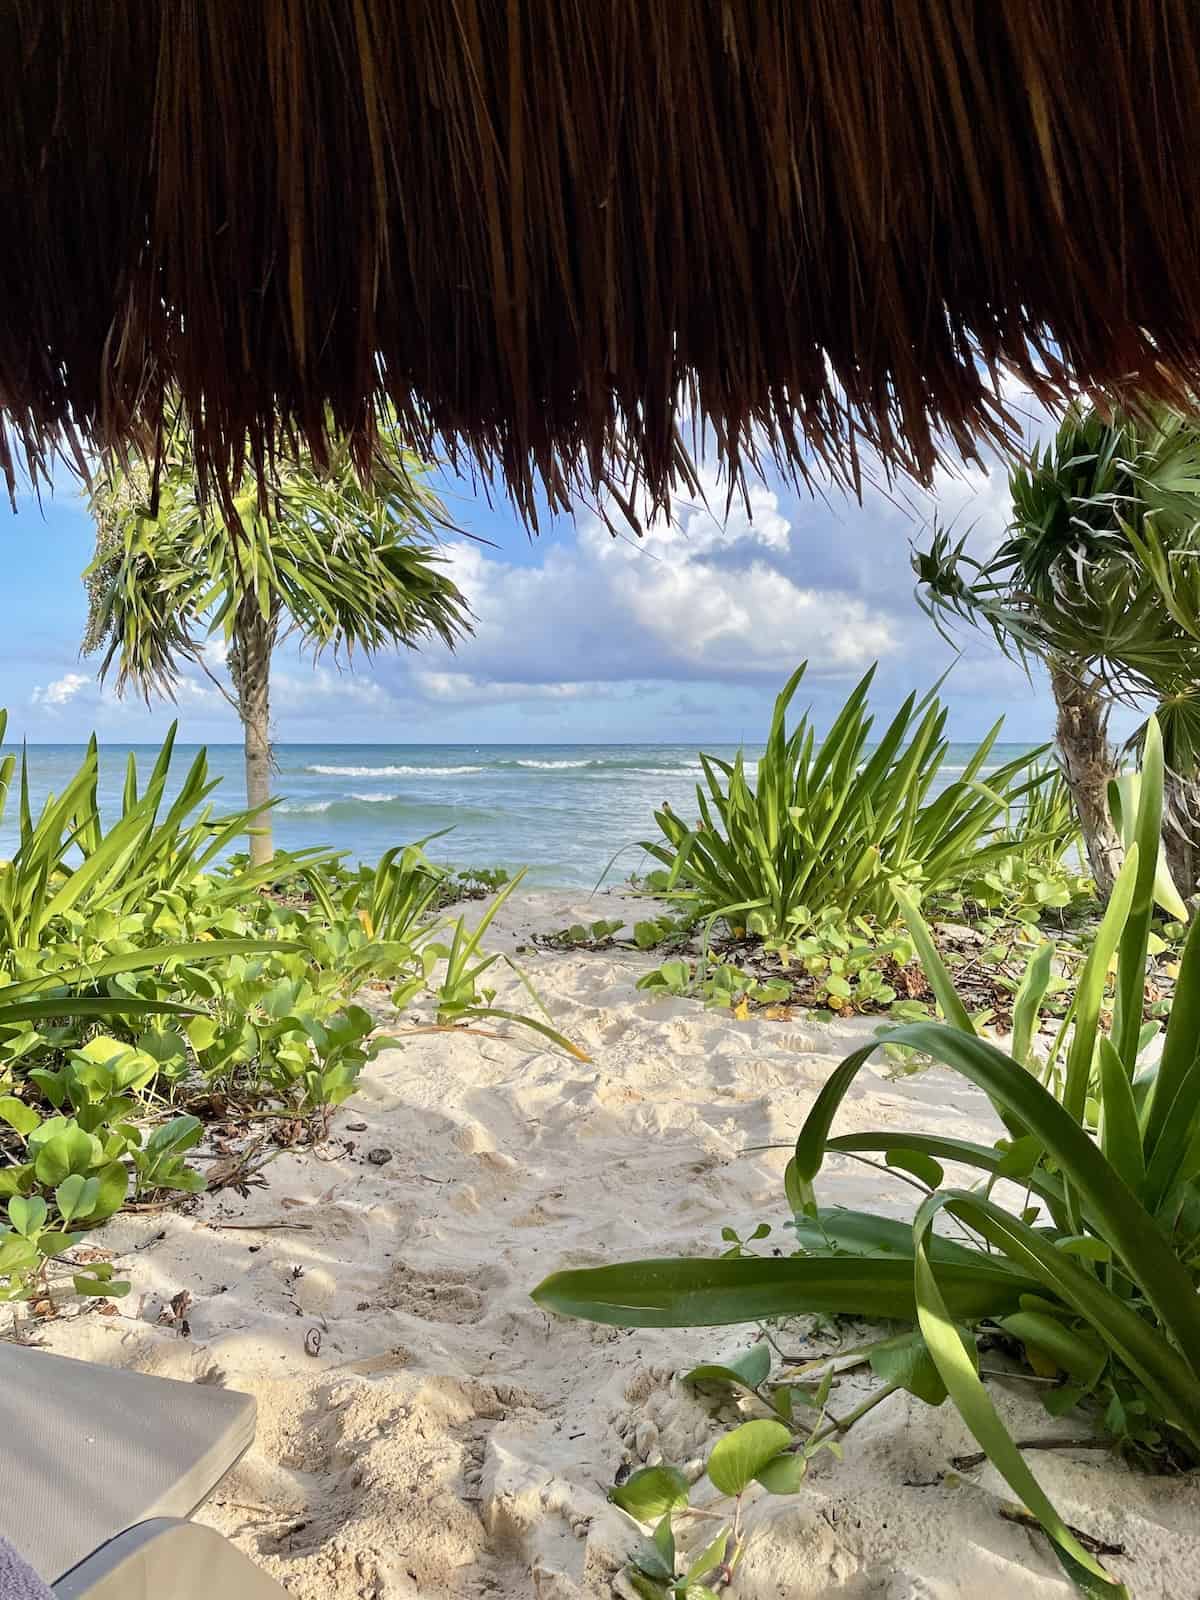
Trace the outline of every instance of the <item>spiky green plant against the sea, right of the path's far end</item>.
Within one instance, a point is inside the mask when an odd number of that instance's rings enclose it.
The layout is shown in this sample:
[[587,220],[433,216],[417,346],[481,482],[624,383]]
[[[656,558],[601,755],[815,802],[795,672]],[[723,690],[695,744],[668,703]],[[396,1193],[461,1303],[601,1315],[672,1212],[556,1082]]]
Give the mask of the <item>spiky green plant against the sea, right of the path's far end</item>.
[[826,907],[848,918],[896,915],[896,882],[933,893],[982,862],[1024,848],[1000,824],[1042,787],[1040,752],[987,773],[1002,723],[934,792],[949,738],[936,694],[910,694],[872,744],[872,667],[824,738],[805,714],[787,731],[800,666],[774,702],[754,781],[742,757],[702,755],[699,824],[658,811],[662,838],[643,848],[669,869],[666,893],[701,917],[728,917],[787,939]]

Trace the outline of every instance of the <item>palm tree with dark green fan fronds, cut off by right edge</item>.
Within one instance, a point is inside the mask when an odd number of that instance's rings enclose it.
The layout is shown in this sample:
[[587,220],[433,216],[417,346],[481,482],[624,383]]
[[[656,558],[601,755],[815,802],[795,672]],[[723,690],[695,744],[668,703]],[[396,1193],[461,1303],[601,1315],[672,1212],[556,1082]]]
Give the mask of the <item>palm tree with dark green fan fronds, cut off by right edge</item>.
[[1008,477],[1006,539],[979,562],[934,528],[914,558],[939,622],[990,627],[1050,670],[1058,747],[1102,896],[1120,866],[1109,813],[1117,702],[1154,709],[1170,766],[1166,858],[1197,888],[1200,778],[1200,424],[1163,408],[1070,408],[1056,437]]

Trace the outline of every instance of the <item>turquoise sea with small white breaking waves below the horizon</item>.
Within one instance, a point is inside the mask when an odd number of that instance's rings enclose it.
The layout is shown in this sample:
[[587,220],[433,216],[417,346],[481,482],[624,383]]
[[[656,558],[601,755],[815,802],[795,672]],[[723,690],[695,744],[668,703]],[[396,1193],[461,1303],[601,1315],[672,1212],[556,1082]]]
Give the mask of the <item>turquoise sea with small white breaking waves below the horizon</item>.
[[[155,746],[101,747],[101,814],[110,821],[120,816],[130,749],[147,774]],[[176,781],[197,749],[176,746]],[[736,755],[736,746],[706,749],[726,760]],[[760,749],[744,746],[750,779]],[[950,747],[939,773],[942,787],[973,749]],[[1022,750],[995,746],[989,765]],[[37,806],[74,776],[83,746],[30,744],[27,755]],[[550,888],[590,888],[618,851],[610,883],[654,866],[637,842],[654,835],[654,810],[664,800],[678,816],[694,818],[701,778],[696,749],[682,744],[282,744],[275,758],[278,846],[328,845],[350,861],[376,861],[390,845],[450,829],[429,845],[434,859],[456,867],[528,866],[528,880]],[[245,795],[240,746],[210,744],[208,760],[222,779],[213,795],[216,810],[238,810]],[[0,856],[10,856],[14,842],[11,794],[0,822]]]

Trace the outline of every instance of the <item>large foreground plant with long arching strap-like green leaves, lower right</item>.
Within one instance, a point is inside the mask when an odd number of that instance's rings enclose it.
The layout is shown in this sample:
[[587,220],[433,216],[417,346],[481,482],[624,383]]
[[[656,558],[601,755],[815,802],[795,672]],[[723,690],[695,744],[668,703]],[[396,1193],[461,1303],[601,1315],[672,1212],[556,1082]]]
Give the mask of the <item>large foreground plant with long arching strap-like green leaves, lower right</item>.
[[[1138,814],[1125,864],[1083,965],[1072,1029],[1043,1061],[1037,1011],[1050,946],[1030,962],[1008,1051],[976,1034],[915,904],[909,926],[944,1022],[890,1029],[856,1050],[818,1094],[786,1174],[798,1253],[634,1261],[558,1272],[534,1299],[619,1326],[704,1326],[808,1312],[915,1323],[963,1421],[1038,1518],[1066,1571],[1093,1595],[1123,1595],[1082,1547],[1008,1435],[962,1328],[984,1328],[1064,1373],[1059,1402],[1090,1408],[1118,1438],[1200,1462],[1200,920],[1179,965],[1160,1050],[1142,1021],[1163,800],[1158,726],[1146,734]],[[1115,958],[1114,1014],[1104,1026]],[[920,1050],[979,1086],[1003,1136],[995,1146],[918,1130],[834,1134],[837,1112],[883,1043]],[[1045,1080],[1045,1082],[1043,1082]],[[883,1155],[926,1189],[910,1227],[822,1208],[829,1154]],[[942,1163],[981,1184],[946,1181]],[[994,1194],[1013,1179],[1026,1200]],[[966,1243],[934,1224],[952,1216]],[[917,1390],[914,1390],[917,1392]]]

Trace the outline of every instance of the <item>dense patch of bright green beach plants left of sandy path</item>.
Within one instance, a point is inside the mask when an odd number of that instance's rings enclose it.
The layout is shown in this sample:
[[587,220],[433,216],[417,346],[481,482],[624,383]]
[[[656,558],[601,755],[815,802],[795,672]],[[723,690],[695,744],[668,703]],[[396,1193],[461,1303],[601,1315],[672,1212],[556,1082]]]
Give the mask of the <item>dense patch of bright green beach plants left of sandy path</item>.
[[[130,1198],[203,1187],[187,1163],[203,1134],[194,1112],[323,1134],[397,1042],[357,1003],[363,986],[390,990],[390,1026],[427,995],[437,1026],[506,1019],[581,1054],[531,989],[541,1016],[498,1010],[485,986],[499,957],[482,939],[518,880],[469,930],[440,912],[461,880],[427,842],[358,869],[323,850],[221,861],[248,814],[213,814],[203,752],[168,802],[173,741],[144,790],[130,760],[110,826],[94,739],[37,816],[21,765],[18,845],[0,862],[0,1299],[64,1283],[120,1293],[69,1251]],[[6,757],[0,806],[13,773]]]

